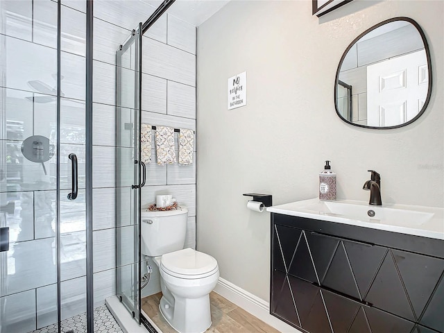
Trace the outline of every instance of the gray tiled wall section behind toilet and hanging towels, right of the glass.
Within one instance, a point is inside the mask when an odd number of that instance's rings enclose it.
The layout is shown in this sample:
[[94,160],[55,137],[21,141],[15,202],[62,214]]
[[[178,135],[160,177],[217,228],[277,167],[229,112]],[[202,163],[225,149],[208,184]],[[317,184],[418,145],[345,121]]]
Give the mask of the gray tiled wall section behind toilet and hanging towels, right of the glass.
[[[162,38],[144,35],[142,42],[142,123],[196,130],[196,26],[164,15],[156,22]],[[175,133],[176,149],[178,133]],[[155,148],[155,132],[151,146]],[[176,150],[176,157],[178,151]],[[196,248],[196,140],[194,163],[189,166],[156,163],[146,165],[146,186],[142,188],[142,207],[155,203],[155,196],[171,194],[189,209],[185,247]],[[153,273],[142,297],[160,291],[160,275]],[[146,267],[142,264],[142,273]]]

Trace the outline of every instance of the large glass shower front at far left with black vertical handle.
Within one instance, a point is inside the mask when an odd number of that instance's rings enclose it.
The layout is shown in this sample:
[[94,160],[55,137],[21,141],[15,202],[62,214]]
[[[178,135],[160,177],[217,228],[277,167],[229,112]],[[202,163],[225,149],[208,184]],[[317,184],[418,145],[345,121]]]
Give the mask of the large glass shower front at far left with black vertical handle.
[[0,0],[0,333],[86,326],[85,76],[84,12]]

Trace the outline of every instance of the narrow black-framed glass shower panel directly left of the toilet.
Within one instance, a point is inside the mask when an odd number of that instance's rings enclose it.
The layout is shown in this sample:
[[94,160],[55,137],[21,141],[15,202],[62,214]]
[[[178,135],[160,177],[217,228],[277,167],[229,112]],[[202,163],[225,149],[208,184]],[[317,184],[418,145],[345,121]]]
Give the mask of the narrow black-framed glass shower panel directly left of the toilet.
[[116,73],[116,290],[139,323],[140,191],[145,174],[139,158],[141,31],[139,24],[117,51]]

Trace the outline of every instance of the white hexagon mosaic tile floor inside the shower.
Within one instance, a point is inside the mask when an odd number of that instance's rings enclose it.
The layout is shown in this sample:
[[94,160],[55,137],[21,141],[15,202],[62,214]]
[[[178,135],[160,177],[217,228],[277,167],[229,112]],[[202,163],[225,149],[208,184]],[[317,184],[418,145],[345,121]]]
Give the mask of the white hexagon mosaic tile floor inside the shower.
[[[87,333],[86,314],[79,314],[62,321],[62,333]],[[57,324],[49,325],[31,333],[57,333]],[[122,333],[106,305],[94,309],[94,333]]]

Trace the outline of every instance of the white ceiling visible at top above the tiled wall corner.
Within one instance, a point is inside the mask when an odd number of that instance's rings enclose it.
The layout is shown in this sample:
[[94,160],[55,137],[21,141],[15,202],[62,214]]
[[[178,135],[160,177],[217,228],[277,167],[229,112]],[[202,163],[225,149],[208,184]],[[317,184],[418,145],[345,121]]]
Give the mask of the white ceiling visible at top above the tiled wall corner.
[[[143,0],[157,8],[162,0]],[[200,26],[230,0],[176,0],[167,12],[185,22]]]

